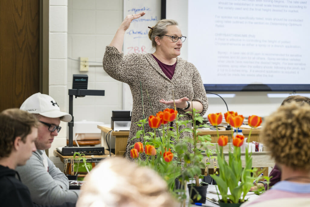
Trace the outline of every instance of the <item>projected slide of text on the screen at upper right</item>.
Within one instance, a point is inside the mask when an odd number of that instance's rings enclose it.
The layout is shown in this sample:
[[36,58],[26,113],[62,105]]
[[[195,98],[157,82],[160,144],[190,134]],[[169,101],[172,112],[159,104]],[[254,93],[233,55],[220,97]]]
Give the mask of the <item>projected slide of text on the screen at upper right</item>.
[[310,1],[188,1],[188,61],[204,84],[309,84]]

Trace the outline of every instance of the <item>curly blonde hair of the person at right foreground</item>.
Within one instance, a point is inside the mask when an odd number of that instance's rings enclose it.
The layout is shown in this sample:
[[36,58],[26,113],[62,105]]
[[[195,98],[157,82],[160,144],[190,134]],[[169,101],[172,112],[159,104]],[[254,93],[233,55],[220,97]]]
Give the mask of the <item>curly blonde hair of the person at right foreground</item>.
[[276,163],[310,170],[310,105],[286,103],[265,119],[260,138]]

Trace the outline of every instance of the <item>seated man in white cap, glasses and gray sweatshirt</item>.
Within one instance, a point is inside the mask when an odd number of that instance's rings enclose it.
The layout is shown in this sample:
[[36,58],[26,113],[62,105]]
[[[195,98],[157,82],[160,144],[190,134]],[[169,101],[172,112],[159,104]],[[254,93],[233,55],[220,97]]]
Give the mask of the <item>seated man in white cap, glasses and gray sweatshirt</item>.
[[35,141],[37,150],[26,165],[16,168],[21,181],[28,186],[32,200],[40,205],[75,203],[78,192],[69,190],[68,178],[45,154],[61,130],[60,121],[70,122],[72,116],[61,112],[51,96],[41,93],[31,95],[20,109],[35,114],[39,120],[38,139]]

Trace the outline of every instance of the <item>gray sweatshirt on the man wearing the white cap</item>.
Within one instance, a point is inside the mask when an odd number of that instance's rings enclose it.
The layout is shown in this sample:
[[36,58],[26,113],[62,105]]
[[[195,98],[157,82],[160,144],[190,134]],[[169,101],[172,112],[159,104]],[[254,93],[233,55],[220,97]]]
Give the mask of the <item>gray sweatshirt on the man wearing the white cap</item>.
[[29,188],[33,202],[39,205],[75,203],[78,200],[78,192],[69,190],[68,178],[44,150],[33,152],[27,163],[17,167],[16,171],[20,174],[21,182]]

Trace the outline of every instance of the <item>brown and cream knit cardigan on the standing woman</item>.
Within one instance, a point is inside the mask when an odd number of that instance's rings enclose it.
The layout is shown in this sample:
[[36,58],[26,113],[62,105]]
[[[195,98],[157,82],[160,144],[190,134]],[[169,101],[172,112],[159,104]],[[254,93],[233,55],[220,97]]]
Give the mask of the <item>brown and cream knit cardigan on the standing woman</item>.
[[[172,100],[172,90],[174,91],[175,99],[187,97],[190,101],[201,102],[203,105],[201,116],[206,113],[209,103],[201,76],[192,63],[182,58],[177,58],[175,73],[172,80],[170,80],[150,53],[134,53],[124,56],[123,52],[119,53],[115,47],[107,46],[103,58],[103,68],[109,76],[127,83],[131,89],[133,106],[131,127],[126,147],[127,159],[131,159],[130,146],[138,141],[143,142],[143,138],[131,140],[136,136],[136,132],[142,129],[135,124],[135,122],[143,119],[140,81],[142,84],[144,118],[148,118],[150,115],[156,115],[157,112],[165,108],[172,108],[159,102],[160,99],[166,101]],[[146,90],[148,91],[154,114],[152,114]],[[184,114],[182,109],[177,108],[177,110],[179,114]],[[181,118],[183,120],[191,119],[188,115]],[[175,122],[173,122],[172,127],[176,127]],[[187,127],[191,127],[191,125],[188,124]],[[180,130],[183,128],[185,126],[179,127]],[[153,132],[153,129],[147,125],[145,126],[145,131]],[[193,137],[189,132],[184,132],[180,136],[181,139],[184,137]],[[191,148],[190,145],[188,147],[189,149]]]

